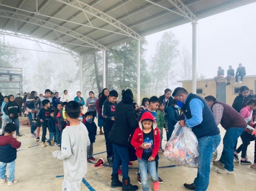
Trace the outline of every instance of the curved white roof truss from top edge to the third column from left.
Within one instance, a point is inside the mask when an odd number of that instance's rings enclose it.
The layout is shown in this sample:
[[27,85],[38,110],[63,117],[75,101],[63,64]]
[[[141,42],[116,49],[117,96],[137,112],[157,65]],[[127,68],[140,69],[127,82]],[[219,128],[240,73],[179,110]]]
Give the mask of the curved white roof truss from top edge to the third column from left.
[[[115,18],[111,17],[110,15],[104,13],[103,11],[100,11],[99,9],[94,8],[93,6],[88,5],[87,3],[84,3],[80,0],[76,0],[76,4],[72,4],[69,2],[69,0],[56,0],[60,3],[67,4],[71,7],[74,7],[76,9],[79,9],[81,11],[84,11],[84,14],[90,14],[100,20],[103,20],[106,23],[109,23],[111,26],[114,26],[116,29],[119,29],[124,34],[127,34],[129,37],[133,37],[134,39],[141,39],[142,37],[140,34],[135,32],[134,30],[130,29],[128,26],[124,25],[120,21],[116,20]],[[82,8],[82,6],[87,6],[87,9]]]

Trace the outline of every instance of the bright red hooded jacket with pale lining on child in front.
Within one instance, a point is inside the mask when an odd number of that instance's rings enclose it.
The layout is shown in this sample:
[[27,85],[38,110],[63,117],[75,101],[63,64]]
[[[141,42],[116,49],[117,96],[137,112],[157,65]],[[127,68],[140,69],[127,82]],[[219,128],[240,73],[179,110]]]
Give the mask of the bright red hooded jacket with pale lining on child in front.
[[139,127],[134,131],[134,135],[131,139],[131,145],[134,146],[134,148],[136,149],[136,156],[139,157],[141,159],[142,154],[143,154],[143,148],[140,147],[140,145],[143,143],[143,131],[142,131],[142,120],[145,119],[150,119],[153,120],[153,133],[154,133],[154,147],[152,150],[152,154],[151,157],[156,158],[157,154],[158,154],[158,150],[160,147],[160,134],[159,134],[159,129],[157,128],[157,122],[154,120],[153,115],[146,111],[140,118],[140,122],[139,122]]

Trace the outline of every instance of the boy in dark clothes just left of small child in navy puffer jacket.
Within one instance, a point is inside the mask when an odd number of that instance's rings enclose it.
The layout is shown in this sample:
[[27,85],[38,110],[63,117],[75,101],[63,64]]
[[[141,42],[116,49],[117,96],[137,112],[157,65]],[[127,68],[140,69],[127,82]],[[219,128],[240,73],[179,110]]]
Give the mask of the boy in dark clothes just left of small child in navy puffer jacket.
[[[38,113],[38,120],[40,120],[42,127],[43,127],[43,134],[42,134],[42,147],[45,148],[45,141],[47,141],[46,132],[47,132],[47,125],[48,120],[50,118],[50,111],[49,108],[51,106],[51,102],[49,100],[43,100],[42,104],[44,105],[43,108],[40,109]],[[39,136],[39,134],[38,134]]]

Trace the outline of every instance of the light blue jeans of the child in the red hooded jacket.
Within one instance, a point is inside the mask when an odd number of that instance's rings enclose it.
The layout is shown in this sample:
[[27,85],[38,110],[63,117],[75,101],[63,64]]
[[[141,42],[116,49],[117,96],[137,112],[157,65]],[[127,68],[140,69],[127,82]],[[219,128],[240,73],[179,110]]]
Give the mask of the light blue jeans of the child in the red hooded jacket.
[[139,170],[140,170],[140,180],[142,184],[142,190],[143,191],[149,191],[150,186],[148,183],[148,173],[151,176],[152,182],[157,182],[158,174],[157,174],[157,168],[156,168],[156,161],[148,161],[139,159],[138,157],[138,164],[139,164]]

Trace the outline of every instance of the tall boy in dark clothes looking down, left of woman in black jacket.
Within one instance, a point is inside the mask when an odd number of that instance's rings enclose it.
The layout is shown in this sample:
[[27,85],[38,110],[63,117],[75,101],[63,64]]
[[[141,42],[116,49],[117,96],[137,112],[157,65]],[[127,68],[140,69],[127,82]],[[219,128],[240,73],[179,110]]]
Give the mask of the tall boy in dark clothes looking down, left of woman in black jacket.
[[107,148],[107,159],[108,165],[113,165],[113,146],[111,141],[108,139],[108,134],[114,124],[115,121],[115,111],[116,111],[116,100],[118,97],[118,93],[115,90],[109,92],[108,100],[102,105],[102,118],[104,121],[103,130],[106,140],[106,148]]

